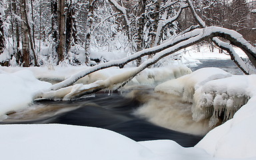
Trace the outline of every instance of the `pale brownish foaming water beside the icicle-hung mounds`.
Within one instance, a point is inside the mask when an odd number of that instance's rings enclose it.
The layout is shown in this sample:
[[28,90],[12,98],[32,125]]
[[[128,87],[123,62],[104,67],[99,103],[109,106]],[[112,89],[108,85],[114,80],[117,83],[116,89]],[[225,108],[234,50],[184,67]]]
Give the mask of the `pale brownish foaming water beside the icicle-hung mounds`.
[[193,121],[192,103],[180,96],[141,90],[132,91],[128,96],[144,103],[134,114],[155,125],[193,135],[205,135],[213,129],[209,127],[209,119]]

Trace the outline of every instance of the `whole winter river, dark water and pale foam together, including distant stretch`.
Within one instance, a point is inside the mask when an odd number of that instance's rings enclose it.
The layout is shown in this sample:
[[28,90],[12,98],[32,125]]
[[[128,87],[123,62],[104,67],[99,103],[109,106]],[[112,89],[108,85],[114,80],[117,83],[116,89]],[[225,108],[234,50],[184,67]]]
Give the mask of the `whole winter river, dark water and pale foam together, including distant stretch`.
[[[198,67],[220,67],[242,74],[231,60],[201,60]],[[154,93],[153,88],[137,86],[119,93],[97,93],[77,101],[36,101],[19,113],[10,113],[2,123],[62,123],[101,127],[135,141],[172,139],[184,147],[194,146],[209,131],[204,123],[191,118],[191,103],[179,97]],[[207,123],[208,124],[208,123]]]

